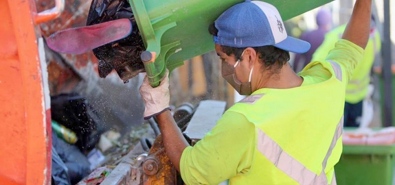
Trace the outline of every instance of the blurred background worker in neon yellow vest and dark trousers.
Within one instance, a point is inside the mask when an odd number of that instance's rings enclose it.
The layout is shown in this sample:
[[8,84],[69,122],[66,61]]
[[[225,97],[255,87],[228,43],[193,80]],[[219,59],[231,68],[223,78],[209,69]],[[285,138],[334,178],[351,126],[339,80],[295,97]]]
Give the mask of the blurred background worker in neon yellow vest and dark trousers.
[[[313,55],[314,60],[323,60],[328,52],[333,49],[335,43],[341,39],[346,25],[339,26],[328,32],[322,44]],[[370,72],[375,56],[381,49],[381,38],[374,19],[370,24],[369,41],[365,48],[362,60],[356,66],[351,80],[346,87],[346,102],[344,106],[344,126],[358,127],[362,117],[362,102],[368,94]]]

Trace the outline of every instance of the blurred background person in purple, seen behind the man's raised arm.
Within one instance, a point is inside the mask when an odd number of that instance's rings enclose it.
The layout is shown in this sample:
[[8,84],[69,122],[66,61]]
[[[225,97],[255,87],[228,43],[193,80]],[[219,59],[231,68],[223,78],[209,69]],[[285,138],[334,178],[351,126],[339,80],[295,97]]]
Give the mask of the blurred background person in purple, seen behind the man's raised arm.
[[[332,28],[332,13],[327,8],[321,8],[316,14],[317,29],[307,31],[300,36],[300,39],[311,44],[311,48],[306,53],[297,53],[294,58],[293,70],[300,72],[312,61],[312,55],[324,40],[325,34]],[[325,55],[326,56],[326,55]]]

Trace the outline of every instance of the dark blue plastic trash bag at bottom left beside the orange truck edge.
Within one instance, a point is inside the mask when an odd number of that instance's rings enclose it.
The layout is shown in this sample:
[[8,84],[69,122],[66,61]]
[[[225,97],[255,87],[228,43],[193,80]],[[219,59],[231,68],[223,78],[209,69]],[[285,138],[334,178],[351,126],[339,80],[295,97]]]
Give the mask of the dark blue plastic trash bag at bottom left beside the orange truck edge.
[[[77,148],[75,145],[70,145],[59,138],[55,133],[52,132],[52,148],[56,150],[57,155],[63,162],[63,166],[67,168],[67,177],[69,177],[69,181],[71,184],[77,184],[82,178],[89,175],[90,163],[88,158]],[[52,161],[57,157],[52,157]],[[58,162],[60,164],[60,162]],[[52,176],[58,177],[56,179],[61,179],[60,184],[63,185],[65,182],[64,173],[58,172],[60,170],[56,170],[52,172]],[[55,174],[54,174],[55,173]],[[55,179],[55,178],[54,178]]]

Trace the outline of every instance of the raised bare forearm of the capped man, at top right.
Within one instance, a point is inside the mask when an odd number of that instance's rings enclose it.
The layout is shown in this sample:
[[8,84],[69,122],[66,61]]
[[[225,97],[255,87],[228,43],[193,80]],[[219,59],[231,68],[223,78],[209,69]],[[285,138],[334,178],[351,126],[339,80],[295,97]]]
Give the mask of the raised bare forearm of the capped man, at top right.
[[372,0],[356,0],[353,14],[343,34],[344,39],[355,43],[363,49],[366,47],[369,39],[371,6]]

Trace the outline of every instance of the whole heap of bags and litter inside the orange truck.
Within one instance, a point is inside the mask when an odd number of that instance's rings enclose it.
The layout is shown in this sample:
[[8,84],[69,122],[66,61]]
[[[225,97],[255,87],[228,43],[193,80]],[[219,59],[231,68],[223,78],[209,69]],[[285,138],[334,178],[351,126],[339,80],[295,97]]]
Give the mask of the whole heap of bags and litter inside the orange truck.
[[51,99],[54,185],[98,185],[141,138],[155,140],[155,131],[148,122],[123,136],[117,130],[104,131],[94,110],[76,93]]

